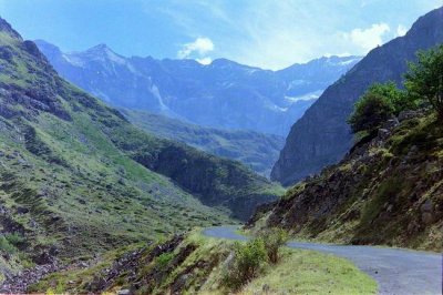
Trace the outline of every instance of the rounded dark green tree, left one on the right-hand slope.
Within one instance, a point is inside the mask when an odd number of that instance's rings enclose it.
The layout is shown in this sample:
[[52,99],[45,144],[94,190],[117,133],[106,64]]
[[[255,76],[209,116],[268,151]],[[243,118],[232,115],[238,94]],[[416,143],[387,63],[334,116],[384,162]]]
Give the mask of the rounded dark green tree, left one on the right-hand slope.
[[392,102],[379,92],[377,85],[373,85],[356,103],[356,109],[348,122],[354,133],[372,132],[379,129],[393,113]]

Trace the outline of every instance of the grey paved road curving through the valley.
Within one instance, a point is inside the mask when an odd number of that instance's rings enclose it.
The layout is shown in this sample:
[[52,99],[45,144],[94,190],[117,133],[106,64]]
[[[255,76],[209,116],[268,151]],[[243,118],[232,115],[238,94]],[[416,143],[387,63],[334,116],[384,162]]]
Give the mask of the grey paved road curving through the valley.
[[[245,241],[235,226],[209,227],[212,237]],[[352,261],[379,284],[380,294],[442,294],[442,255],[427,252],[373,246],[346,246],[289,242],[289,247],[331,253]]]

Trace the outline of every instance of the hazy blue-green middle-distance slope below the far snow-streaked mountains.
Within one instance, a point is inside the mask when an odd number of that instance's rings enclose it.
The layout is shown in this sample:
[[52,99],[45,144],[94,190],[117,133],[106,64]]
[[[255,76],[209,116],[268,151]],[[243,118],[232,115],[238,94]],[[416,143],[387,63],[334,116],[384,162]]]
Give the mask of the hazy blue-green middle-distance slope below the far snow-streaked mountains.
[[282,136],[272,134],[205,128],[144,111],[122,109],[121,112],[148,133],[184,142],[217,156],[239,161],[266,176],[269,176],[285,144]]

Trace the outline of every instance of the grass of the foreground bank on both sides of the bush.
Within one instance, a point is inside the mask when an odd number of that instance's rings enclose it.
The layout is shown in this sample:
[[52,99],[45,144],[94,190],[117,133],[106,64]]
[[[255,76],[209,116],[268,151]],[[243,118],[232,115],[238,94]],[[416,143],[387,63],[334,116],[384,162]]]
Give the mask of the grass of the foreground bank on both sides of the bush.
[[[158,243],[165,243],[165,240],[162,241]],[[178,246],[150,260],[155,245],[145,246],[140,263],[134,268],[136,273],[136,277],[132,278],[134,282],[145,282],[144,278],[150,278],[148,284],[136,292],[137,294],[165,294],[184,275],[186,281],[185,288],[181,291],[183,294],[230,293],[222,278],[226,272],[229,254],[235,247],[234,241],[207,237],[202,234],[202,230],[194,230]],[[110,267],[114,260],[142,247],[142,244],[135,244],[111,251],[89,268],[52,274],[30,291],[59,289],[85,293],[89,282],[102,269]],[[190,251],[186,252],[189,247]],[[249,282],[238,294],[261,294],[264,285],[269,289],[268,294],[374,294],[377,292],[375,282],[344,258],[287,247],[282,250],[281,255],[278,264],[267,265],[265,272]],[[178,257],[183,258],[179,263]],[[155,281],[152,281],[152,275],[155,275]],[[116,293],[134,283],[127,279],[130,278],[126,273],[117,274],[106,292]],[[70,281],[74,284],[69,284]]]

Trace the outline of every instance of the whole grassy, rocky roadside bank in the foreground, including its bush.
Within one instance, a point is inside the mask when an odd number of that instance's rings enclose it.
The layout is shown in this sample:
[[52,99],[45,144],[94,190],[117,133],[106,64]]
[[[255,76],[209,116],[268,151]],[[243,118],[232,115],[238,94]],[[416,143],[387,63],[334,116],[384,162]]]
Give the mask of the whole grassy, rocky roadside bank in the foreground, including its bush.
[[[86,269],[55,273],[34,285],[31,291],[58,289],[60,293],[117,293],[130,288],[135,294],[233,294],[226,285],[226,273],[231,272],[234,258],[241,264],[246,277],[236,294],[374,294],[375,282],[350,262],[328,254],[303,250],[281,250],[277,264],[267,263],[262,238],[235,243],[203,236],[193,231],[184,237],[174,237],[143,247],[121,250],[101,257],[103,262]],[[162,251],[159,251],[162,250]],[[124,260],[136,253],[133,260]],[[114,262],[119,262],[115,264]],[[127,266],[125,263],[127,263]],[[114,266],[112,266],[114,265]],[[119,268],[115,265],[123,265]],[[114,276],[106,276],[111,268]],[[96,286],[106,277],[103,288]],[[75,282],[70,284],[69,282]],[[239,279],[238,279],[239,281]],[[142,284],[137,284],[142,283]],[[138,287],[134,287],[138,286]]]

